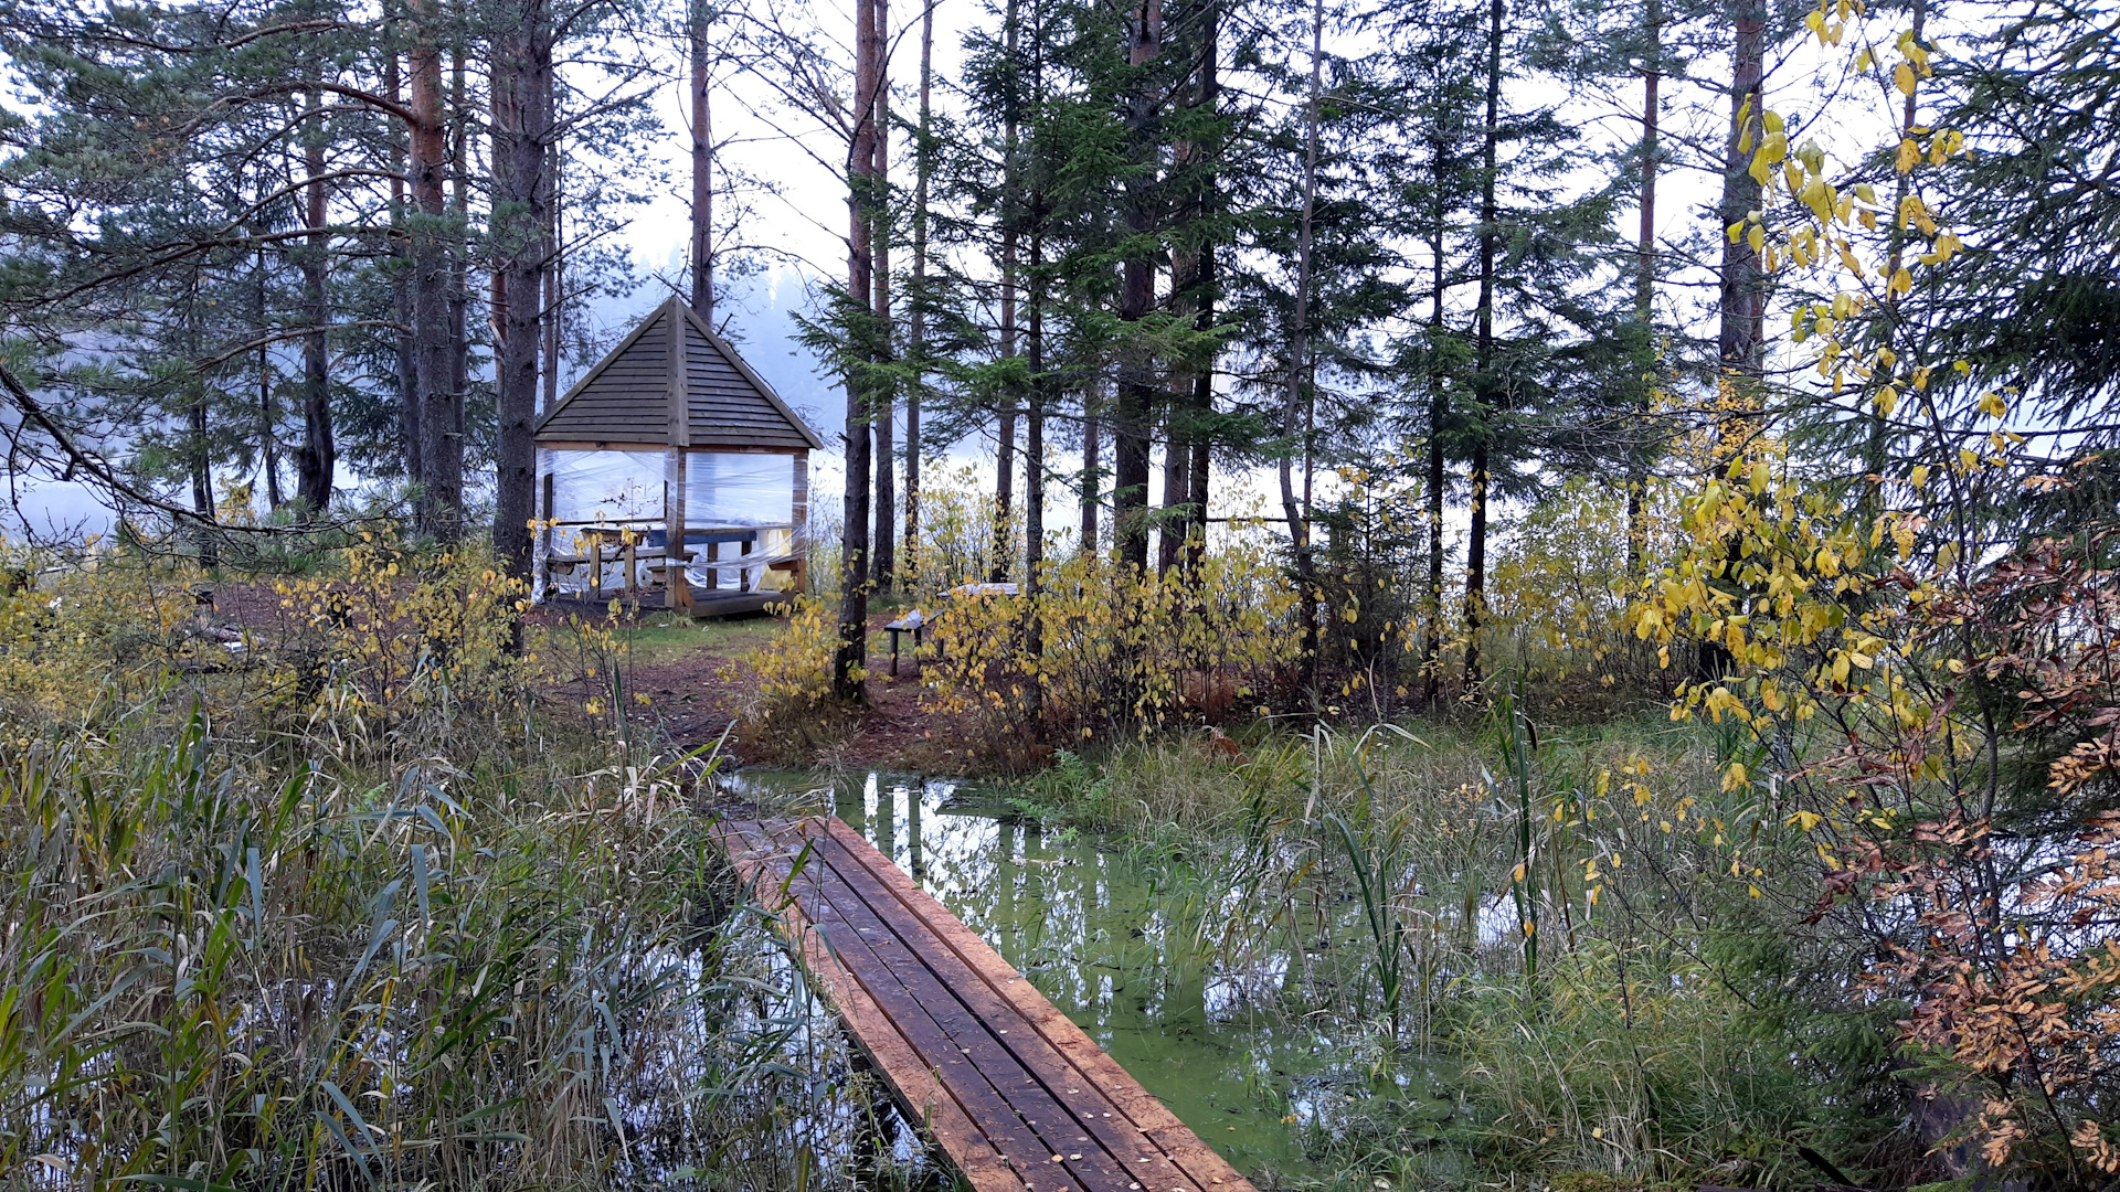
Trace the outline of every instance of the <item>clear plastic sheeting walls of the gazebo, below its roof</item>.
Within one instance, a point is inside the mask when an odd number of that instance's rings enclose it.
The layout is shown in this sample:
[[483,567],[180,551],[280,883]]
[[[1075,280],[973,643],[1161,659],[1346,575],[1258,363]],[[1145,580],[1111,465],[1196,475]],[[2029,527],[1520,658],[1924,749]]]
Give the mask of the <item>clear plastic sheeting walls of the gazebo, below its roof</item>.
[[[649,566],[661,562],[666,539],[664,494],[674,479],[668,452],[538,452],[553,477],[551,554],[585,558],[591,541],[602,545],[602,592],[625,585],[623,543],[617,530],[638,534],[647,556],[632,583],[649,581]],[[689,452],[685,456],[685,526],[689,539],[687,579],[700,588],[782,588],[791,577],[767,564],[795,558],[795,458],[748,452]],[[750,532],[750,541],[706,543],[704,537]],[[708,554],[717,558],[708,560]],[[543,581],[543,571],[541,581]],[[589,588],[587,562],[551,568],[560,592]],[[547,592],[541,588],[536,598]]]

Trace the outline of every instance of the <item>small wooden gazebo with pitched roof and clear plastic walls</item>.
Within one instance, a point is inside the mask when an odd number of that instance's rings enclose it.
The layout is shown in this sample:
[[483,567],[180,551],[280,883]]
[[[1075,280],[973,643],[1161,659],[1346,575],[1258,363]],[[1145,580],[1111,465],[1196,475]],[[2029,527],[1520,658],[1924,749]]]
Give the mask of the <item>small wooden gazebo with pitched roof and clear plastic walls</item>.
[[575,382],[536,445],[541,600],[661,590],[719,615],[801,592],[825,441],[683,301]]

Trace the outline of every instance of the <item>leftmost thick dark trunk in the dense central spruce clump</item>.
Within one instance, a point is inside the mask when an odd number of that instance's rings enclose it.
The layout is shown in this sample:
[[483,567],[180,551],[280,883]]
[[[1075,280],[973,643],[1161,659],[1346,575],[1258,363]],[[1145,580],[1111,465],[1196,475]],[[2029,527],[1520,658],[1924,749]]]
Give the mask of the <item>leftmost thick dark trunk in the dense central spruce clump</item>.
[[[1134,240],[1119,280],[1119,320],[1141,322],[1155,305],[1155,81],[1147,66],[1164,49],[1162,0],[1132,0],[1126,62],[1134,68],[1126,98],[1126,229]],[[1155,403],[1155,363],[1136,341],[1126,348],[1119,397],[1113,407],[1111,528],[1117,560],[1134,571],[1149,566],[1149,426]]]

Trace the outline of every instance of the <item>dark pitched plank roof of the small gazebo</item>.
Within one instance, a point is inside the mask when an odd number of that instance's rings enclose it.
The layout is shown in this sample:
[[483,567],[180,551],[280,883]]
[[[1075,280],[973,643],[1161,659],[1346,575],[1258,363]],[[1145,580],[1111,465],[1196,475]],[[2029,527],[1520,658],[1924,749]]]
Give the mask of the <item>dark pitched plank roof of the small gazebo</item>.
[[825,441],[676,297],[596,363],[536,424],[538,443],[664,443],[765,452]]

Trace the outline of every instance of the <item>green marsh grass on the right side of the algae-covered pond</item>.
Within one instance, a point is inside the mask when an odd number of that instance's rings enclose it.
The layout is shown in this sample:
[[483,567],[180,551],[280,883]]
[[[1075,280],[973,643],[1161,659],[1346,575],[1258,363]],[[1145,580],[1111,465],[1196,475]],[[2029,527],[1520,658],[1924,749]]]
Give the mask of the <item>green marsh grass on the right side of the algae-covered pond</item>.
[[1889,1012],[1832,1010],[1853,974],[1804,940],[1813,878],[1772,802],[1724,789],[1709,732],[1514,713],[1255,732],[1242,764],[1132,742],[1030,804],[1204,891],[1217,965],[1285,959],[1255,1012],[1333,1022],[1348,1056],[1380,1039],[1378,1080],[1448,1065],[1444,1114],[1384,1088],[1306,1124],[1308,1179],[1770,1186],[1813,1179],[1796,1143],[1863,1169],[1891,1122]]

